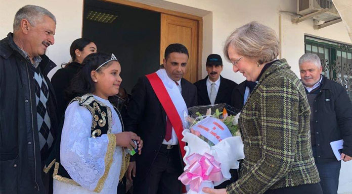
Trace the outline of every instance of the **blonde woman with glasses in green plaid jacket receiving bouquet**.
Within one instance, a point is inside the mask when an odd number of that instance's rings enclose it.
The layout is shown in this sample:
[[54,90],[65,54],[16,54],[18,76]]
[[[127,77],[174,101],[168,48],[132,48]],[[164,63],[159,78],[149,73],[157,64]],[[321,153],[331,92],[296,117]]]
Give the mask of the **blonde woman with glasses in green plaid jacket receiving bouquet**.
[[245,159],[239,179],[207,193],[321,194],[311,148],[310,106],[297,76],[279,55],[273,29],[251,22],[226,40],[224,53],[247,81],[256,82],[239,117]]

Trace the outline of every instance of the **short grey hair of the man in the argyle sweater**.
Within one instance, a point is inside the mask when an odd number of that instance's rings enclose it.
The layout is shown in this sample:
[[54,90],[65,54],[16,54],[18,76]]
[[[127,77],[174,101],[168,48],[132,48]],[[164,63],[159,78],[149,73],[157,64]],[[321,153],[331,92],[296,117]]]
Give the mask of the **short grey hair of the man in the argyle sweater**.
[[55,16],[49,12],[47,9],[33,6],[33,5],[26,5],[19,9],[15,15],[14,19],[14,32],[17,31],[21,26],[21,20],[27,19],[30,25],[35,26],[37,22],[42,20],[43,16],[48,16],[49,18],[53,19],[56,24]]

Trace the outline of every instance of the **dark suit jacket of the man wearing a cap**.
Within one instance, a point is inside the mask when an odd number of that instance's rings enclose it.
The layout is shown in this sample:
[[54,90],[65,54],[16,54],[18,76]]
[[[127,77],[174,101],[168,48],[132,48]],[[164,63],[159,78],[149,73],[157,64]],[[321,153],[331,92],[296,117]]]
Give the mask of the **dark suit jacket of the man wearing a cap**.
[[[194,83],[194,85],[197,86],[199,105],[211,104],[209,100],[208,90],[206,88],[207,79],[208,79],[208,76],[205,77],[203,80],[199,80],[198,82]],[[220,76],[220,86],[215,98],[215,104],[219,104],[219,103],[230,104],[231,93],[235,86],[237,86],[235,82]]]

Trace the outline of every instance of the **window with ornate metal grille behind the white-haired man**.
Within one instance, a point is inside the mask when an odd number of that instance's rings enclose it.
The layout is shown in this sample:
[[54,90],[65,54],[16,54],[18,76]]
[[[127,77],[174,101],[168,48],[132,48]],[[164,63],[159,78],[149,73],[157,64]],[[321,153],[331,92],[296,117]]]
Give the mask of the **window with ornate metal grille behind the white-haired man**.
[[317,54],[323,75],[345,87],[352,100],[352,45],[304,36],[305,53]]

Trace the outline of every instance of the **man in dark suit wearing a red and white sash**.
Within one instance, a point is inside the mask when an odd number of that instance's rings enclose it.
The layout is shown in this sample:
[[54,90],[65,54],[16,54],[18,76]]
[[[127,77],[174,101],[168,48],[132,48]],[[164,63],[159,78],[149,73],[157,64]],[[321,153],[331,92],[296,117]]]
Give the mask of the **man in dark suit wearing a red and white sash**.
[[197,105],[197,88],[183,79],[188,50],[182,44],[165,49],[164,70],[141,77],[132,90],[125,130],[144,140],[143,152],[130,162],[134,193],[180,194],[184,142],[184,111]]

